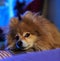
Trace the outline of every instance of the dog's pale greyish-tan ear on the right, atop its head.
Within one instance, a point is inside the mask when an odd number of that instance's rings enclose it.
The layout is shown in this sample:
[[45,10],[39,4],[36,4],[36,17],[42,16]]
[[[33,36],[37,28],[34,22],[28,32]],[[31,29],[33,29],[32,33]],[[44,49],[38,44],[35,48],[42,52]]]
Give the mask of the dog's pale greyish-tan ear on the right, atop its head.
[[30,21],[32,20],[34,22],[34,21],[37,21],[38,16],[40,16],[39,12],[34,13],[31,11],[26,11],[21,17],[22,17],[22,19],[28,19]]

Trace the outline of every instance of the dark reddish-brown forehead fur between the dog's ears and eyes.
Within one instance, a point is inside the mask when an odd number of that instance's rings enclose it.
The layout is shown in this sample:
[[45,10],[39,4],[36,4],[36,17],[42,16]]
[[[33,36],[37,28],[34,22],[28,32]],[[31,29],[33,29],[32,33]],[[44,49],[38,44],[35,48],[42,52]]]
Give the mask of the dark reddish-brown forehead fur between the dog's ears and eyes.
[[23,21],[19,24],[19,31],[21,32],[31,32],[35,34],[36,31],[39,32],[39,27],[33,22],[33,20],[23,19]]

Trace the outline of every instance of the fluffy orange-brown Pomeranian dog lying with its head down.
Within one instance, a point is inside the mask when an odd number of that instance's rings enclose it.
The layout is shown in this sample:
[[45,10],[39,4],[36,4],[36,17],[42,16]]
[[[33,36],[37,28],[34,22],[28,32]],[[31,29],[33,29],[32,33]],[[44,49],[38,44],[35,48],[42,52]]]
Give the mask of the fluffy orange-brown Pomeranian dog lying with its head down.
[[10,21],[6,49],[28,52],[60,48],[60,34],[53,23],[30,11],[21,17],[21,21]]

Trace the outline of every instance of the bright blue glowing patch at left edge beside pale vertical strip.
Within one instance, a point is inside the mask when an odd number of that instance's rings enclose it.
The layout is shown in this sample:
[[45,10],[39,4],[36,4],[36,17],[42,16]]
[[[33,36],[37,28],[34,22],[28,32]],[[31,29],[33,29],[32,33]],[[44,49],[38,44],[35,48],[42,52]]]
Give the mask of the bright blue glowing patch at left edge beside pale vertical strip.
[[0,26],[7,25],[8,19],[9,19],[8,5],[0,6]]

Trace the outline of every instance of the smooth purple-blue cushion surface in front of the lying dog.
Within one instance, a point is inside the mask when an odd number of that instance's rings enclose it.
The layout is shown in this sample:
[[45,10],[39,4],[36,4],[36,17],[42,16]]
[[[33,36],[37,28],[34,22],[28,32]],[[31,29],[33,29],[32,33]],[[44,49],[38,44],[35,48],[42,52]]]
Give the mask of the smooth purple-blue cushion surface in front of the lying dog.
[[60,61],[60,49],[19,54],[0,61]]

